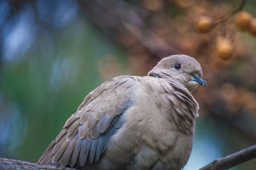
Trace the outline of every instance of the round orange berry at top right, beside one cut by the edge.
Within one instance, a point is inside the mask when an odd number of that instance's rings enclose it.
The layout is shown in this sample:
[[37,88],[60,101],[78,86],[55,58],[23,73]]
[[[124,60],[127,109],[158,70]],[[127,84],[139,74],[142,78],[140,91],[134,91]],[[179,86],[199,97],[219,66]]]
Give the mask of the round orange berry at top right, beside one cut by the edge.
[[246,11],[241,11],[236,15],[236,26],[239,27],[241,30],[246,30],[249,28],[250,20],[251,20],[250,13]]

